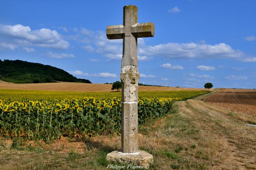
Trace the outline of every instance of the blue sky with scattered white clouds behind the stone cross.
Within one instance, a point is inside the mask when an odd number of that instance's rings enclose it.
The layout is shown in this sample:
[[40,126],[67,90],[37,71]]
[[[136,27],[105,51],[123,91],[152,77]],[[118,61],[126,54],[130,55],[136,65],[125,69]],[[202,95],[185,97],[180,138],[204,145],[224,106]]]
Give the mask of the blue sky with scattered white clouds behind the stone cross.
[[2,1],[0,59],[55,66],[93,83],[119,79],[123,6],[155,36],[138,38],[140,83],[256,88],[256,1]]

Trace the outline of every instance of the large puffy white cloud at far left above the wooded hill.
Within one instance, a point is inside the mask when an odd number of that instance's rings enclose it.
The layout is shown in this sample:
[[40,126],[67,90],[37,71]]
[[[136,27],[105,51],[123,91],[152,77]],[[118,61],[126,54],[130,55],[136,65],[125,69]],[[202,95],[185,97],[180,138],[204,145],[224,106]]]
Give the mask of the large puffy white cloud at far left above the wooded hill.
[[[67,49],[68,41],[55,30],[42,28],[40,30],[31,30],[29,26],[17,24],[14,26],[0,25],[1,44],[10,44],[12,46],[37,46],[54,49]],[[15,49],[15,48],[14,48]]]

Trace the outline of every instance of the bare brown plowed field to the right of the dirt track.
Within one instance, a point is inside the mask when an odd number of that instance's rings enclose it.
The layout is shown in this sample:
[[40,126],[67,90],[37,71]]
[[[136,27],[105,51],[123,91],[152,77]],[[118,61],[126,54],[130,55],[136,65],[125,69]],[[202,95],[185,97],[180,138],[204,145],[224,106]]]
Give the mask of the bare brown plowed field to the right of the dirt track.
[[256,116],[256,90],[219,89],[215,94],[204,98],[205,102],[222,106],[230,111]]

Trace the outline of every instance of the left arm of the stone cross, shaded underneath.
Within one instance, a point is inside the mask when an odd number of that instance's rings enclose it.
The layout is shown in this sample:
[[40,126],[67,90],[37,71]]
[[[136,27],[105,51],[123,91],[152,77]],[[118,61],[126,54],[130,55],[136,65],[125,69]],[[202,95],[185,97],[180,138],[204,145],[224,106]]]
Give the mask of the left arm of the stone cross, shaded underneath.
[[106,36],[108,39],[121,39],[125,33],[124,28],[123,25],[108,26],[106,28]]

